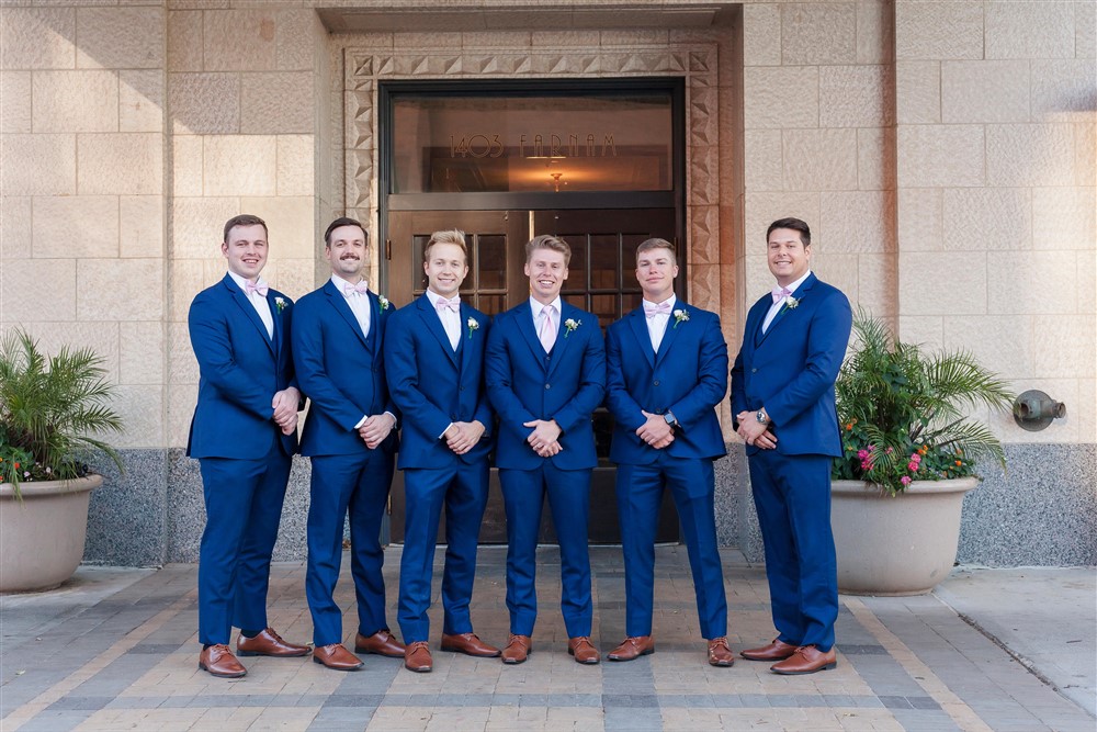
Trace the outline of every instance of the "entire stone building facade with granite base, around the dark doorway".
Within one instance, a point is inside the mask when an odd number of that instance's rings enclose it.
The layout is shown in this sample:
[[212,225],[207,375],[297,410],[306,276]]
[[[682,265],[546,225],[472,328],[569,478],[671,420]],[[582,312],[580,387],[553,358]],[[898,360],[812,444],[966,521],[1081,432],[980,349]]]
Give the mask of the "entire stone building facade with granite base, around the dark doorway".
[[[381,87],[675,77],[686,293],[732,353],[766,225],[808,221],[815,271],[901,339],[1067,405],[1039,432],[985,416],[1009,471],[968,497],[960,559],[1097,563],[1095,26],[1088,0],[0,0],[0,327],[103,353],[127,424],[86,559],[195,560],[189,303],[237,213],[295,297],[333,216],[384,230]],[[760,558],[724,413],[721,537]]]

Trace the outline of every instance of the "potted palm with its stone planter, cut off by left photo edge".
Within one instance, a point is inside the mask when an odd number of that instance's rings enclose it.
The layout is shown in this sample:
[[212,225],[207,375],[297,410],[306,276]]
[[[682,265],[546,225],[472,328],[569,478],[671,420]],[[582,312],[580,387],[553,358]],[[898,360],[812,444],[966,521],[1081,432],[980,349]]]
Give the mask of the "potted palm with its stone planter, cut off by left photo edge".
[[91,491],[83,459],[118,453],[94,435],[122,431],[114,386],[91,349],[47,357],[24,330],[0,339],[0,592],[56,587],[83,558]]

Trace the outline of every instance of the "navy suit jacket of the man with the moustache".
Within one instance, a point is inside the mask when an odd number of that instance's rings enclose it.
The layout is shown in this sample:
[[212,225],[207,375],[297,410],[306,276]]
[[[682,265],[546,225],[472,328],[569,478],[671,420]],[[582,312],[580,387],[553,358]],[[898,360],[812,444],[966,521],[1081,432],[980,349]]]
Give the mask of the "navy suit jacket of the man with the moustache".
[[[372,292],[369,297],[369,336],[362,335],[347,297],[331,280],[297,302],[293,361],[301,391],[312,402],[301,435],[304,455],[366,452],[369,448],[354,429],[362,417],[391,412],[399,419],[388,396],[381,357],[385,327],[395,308],[383,308]],[[377,447],[395,451],[396,429]]]

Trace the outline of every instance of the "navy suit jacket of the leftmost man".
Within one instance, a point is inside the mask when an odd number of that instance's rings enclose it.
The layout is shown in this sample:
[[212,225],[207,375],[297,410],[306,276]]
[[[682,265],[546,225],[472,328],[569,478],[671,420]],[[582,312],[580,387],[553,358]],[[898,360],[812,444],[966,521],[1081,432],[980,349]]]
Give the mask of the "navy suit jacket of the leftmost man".
[[253,460],[270,454],[275,442],[287,455],[297,451],[296,431],[282,433],[271,405],[276,392],[297,386],[290,345],[293,302],[276,290],[268,291],[267,302],[273,338],[228,273],[191,303],[186,323],[201,374],[186,443],[191,458]]

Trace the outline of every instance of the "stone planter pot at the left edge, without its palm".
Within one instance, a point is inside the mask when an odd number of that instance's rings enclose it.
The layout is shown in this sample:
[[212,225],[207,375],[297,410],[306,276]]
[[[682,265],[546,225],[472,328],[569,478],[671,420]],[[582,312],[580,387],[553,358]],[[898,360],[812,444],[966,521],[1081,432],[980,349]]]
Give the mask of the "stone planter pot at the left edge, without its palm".
[[102,475],[23,483],[23,500],[0,484],[0,592],[52,589],[83,559],[88,503]]

